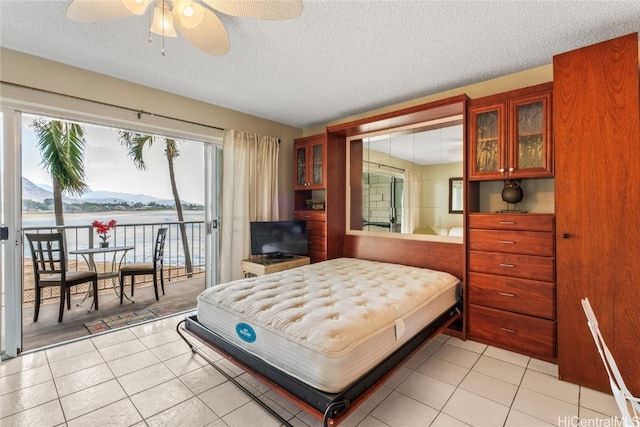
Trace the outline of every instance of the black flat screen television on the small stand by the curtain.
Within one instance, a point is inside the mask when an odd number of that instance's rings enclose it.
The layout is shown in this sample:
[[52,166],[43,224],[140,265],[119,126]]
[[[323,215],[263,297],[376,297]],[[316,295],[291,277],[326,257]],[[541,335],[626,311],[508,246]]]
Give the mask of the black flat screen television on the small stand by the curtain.
[[251,222],[251,255],[290,258],[307,255],[306,221]]

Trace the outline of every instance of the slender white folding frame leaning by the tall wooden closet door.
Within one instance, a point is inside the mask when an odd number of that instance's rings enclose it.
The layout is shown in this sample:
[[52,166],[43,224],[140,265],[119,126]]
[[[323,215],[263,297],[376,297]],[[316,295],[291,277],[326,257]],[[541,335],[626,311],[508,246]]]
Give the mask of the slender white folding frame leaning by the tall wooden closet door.
[[600,333],[598,320],[591,308],[589,298],[582,300],[582,308],[584,310],[584,314],[587,316],[587,325],[589,326],[591,335],[593,335],[593,340],[596,342],[598,353],[600,353],[600,358],[602,359],[604,368],[609,376],[611,392],[616,400],[618,409],[622,413],[622,425],[624,427],[639,427],[640,399],[634,397],[624,383],[622,375],[620,375],[620,370],[616,365],[616,361],[613,359],[613,355],[611,354],[611,351],[609,351],[609,347],[607,347],[607,344],[604,342],[604,338]]

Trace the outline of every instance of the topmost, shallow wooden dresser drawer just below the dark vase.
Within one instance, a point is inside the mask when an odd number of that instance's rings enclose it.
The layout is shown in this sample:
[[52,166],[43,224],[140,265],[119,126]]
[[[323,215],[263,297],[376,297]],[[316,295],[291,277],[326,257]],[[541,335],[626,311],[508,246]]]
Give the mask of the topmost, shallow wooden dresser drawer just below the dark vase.
[[492,230],[551,231],[555,229],[552,214],[470,214],[469,228]]

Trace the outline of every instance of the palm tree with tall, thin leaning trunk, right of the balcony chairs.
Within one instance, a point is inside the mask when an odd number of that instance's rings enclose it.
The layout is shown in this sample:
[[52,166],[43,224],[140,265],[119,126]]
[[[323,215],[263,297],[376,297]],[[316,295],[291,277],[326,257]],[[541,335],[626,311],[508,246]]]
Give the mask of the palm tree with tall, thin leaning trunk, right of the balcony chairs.
[[[128,152],[127,154],[133,160],[133,163],[140,170],[145,170],[147,165],[144,162],[142,152],[145,146],[151,147],[156,139],[151,135],[143,135],[135,132],[118,131],[120,135],[120,143],[124,145]],[[187,277],[191,277],[193,274],[193,264],[191,263],[191,253],[189,251],[189,242],[187,241],[187,227],[184,224],[184,215],[182,214],[182,203],[180,202],[180,196],[178,195],[178,186],[176,185],[176,176],[173,168],[173,161],[180,155],[178,150],[178,144],[175,139],[164,139],[164,153],[167,156],[167,164],[169,166],[169,179],[171,180],[171,192],[173,193],[173,200],[176,204],[176,212],[178,213],[178,221],[180,223],[180,236],[182,237],[182,248],[184,250],[185,268],[187,269]]]

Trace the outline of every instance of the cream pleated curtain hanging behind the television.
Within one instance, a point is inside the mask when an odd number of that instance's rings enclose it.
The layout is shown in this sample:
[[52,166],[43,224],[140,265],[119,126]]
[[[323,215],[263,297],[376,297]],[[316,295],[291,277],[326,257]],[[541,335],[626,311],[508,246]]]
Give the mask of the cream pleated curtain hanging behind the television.
[[220,281],[241,278],[249,222],[278,219],[278,138],[225,130],[222,140]]

